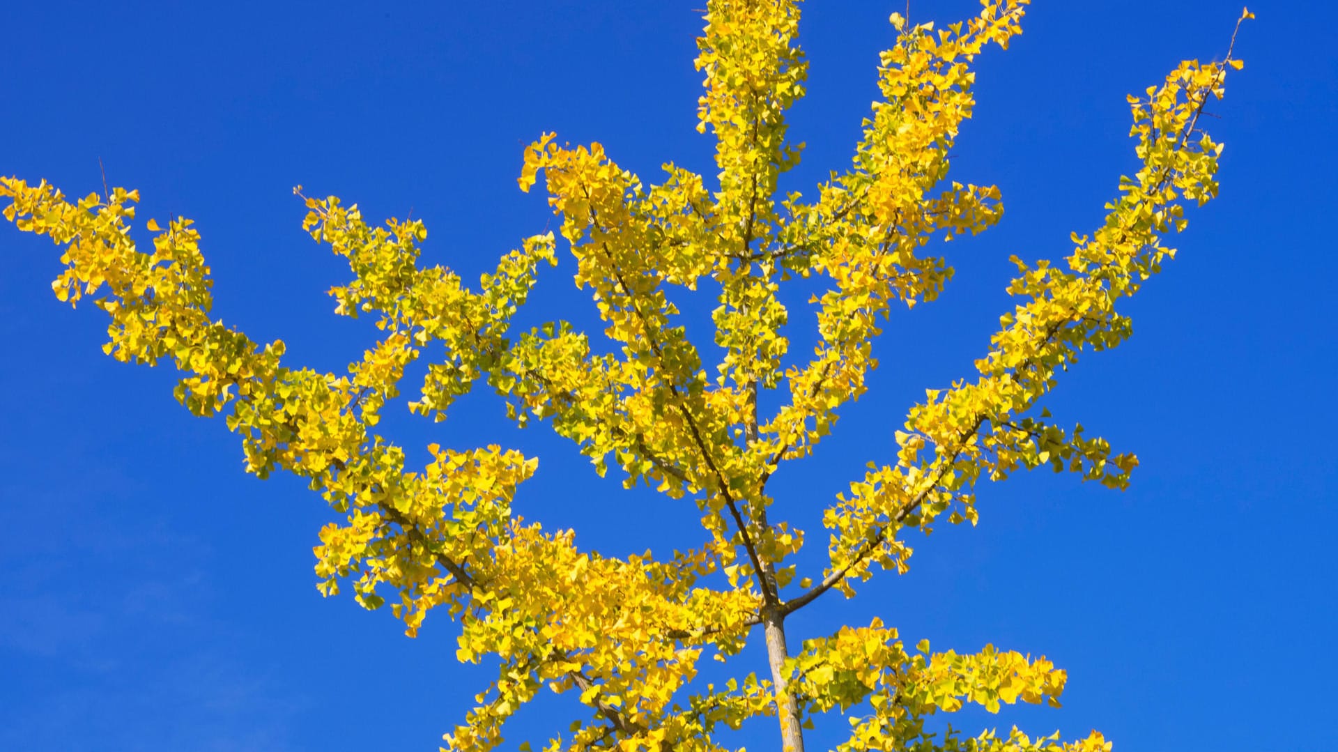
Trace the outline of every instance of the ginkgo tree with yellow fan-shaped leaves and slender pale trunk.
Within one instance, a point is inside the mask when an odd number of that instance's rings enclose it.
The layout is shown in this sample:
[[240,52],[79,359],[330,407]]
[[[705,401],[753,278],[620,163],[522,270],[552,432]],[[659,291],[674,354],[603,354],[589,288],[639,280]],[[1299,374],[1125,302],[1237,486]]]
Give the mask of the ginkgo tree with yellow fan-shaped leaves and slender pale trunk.
[[[696,60],[698,130],[714,138],[719,178],[666,163],[648,187],[601,145],[565,146],[553,134],[524,150],[520,189],[542,177],[575,282],[605,324],[593,335],[561,318],[512,325],[557,264],[551,233],[527,238],[471,288],[419,262],[423,222],[373,226],[356,205],[302,195],[304,229],[352,270],[330,290],[336,313],[375,317],[381,332],[348,372],[320,372],[285,364],[282,341],[256,343],[210,316],[213,282],[190,219],[150,219],[157,234],[142,252],[131,238],[136,191],[71,201],[45,182],[5,178],[4,217],[63,246],[56,297],[92,298],[111,317],[108,355],[174,365],[177,399],[195,415],[222,413],[250,472],[305,478],[341,515],[314,549],[322,593],[352,590],[409,636],[444,612],[459,624],[460,661],[496,662],[496,680],[446,735],[448,749],[495,748],[507,719],[545,689],[587,708],[553,735],[551,751],[717,751],[720,729],[769,716],[776,748],[800,752],[804,728],[846,712],[842,751],[1109,749],[1097,732],[1064,743],[927,723],[965,702],[991,712],[1057,702],[1066,674],[1044,657],[907,646],[880,620],[787,634],[787,618],[832,590],[856,595],[880,570],[904,573],[910,533],[974,525],[983,479],[1048,466],[1128,484],[1133,455],[1054,424],[1044,403],[1084,348],[1129,336],[1117,304],[1173,256],[1163,238],[1184,229],[1183,206],[1216,195],[1222,145],[1200,115],[1242,67],[1230,51],[1220,63],[1184,62],[1128,98],[1139,167],[1120,178],[1105,221],[1074,233],[1064,262],[1013,258],[1017,304],[977,373],[929,389],[896,432],[895,456],[823,512],[822,571],[799,571],[804,531],[769,515],[777,468],[809,455],[864,392],[883,321],[934,301],[951,278],[931,241],[1002,217],[997,187],[949,179],[950,151],[971,116],[979,55],[1021,33],[1026,4],[982,0],[978,16],[947,28],[894,13],[896,43],[880,55],[880,99],[852,163],[809,195],[780,195],[803,147],[785,126],[807,71],[797,0],[710,0]],[[816,345],[793,353],[796,304],[784,293],[803,280],[824,292],[807,300]],[[682,325],[674,300],[693,294],[719,298],[714,347]],[[681,500],[684,514],[700,515],[700,545],[664,559],[582,551],[571,531],[512,515],[538,460],[499,446],[429,444],[431,462],[407,467],[376,427],[419,359],[427,376],[413,412],[442,420],[483,383],[511,419],[547,423],[601,475],[611,460],[626,486]],[[779,409],[760,409],[763,391]],[[739,666],[752,640],[764,642],[767,666],[719,685],[697,680],[702,660]]]

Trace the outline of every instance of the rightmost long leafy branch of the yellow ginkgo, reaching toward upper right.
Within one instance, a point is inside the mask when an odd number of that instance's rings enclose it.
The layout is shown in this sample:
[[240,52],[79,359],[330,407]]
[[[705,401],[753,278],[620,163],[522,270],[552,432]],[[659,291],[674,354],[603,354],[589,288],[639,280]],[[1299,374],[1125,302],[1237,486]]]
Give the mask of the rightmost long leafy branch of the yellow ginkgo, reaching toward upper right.
[[[899,467],[883,467],[852,484],[854,498],[832,512],[838,545],[831,570],[816,586],[788,601],[788,612],[832,587],[848,587],[846,582],[864,573],[871,559],[903,567],[906,550],[890,547],[892,538],[931,500],[921,526],[953,500],[965,510],[957,519],[974,519],[971,499],[959,490],[982,472],[1002,478],[1018,463],[1036,467],[1054,455],[1069,458],[1070,467],[1085,478],[1113,486],[1127,482],[1136,464],[1132,456],[1111,458],[1108,446],[1084,440],[1081,428],[1072,439],[1057,431],[1020,432],[1009,416],[1030,409],[1048,393],[1056,371],[1074,363],[1085,344],[1103,349],[1128,336],[1128,321],[1115,312],[1115,301],[1136,292],[1160,269],[1163,257],[1173,253],[1160,246],[1163,233],[1184,227],[1180,206],[1173,202],[1184,197],[1202,203],[1216,191],[1212,174],[1220,147],[1206,135],[1199,142],[1191,142],[1189,135],[1196,132],[1207,99],[1220,95],[1224,74],[1224,66],[1185,63],[1160,91],[1149,92],[1147,102],[1131,98],[1132,132],[1139,136],[1137,151],[1144,162],[1137,182],[1121,185],[1125,195],[1112,205],[1096,238],[1081,238],[1069,256],[1074,273],[1057,272],[1044,262],[1029,270],[1018,262],[1024,276],[1014,280],[1010,292],[1030,296],[1032,301],[1004,317],[1005,328],[994,336],[994,349],[977,361],[977,381],[955,385],[942,399],[931,392],[930,401],[911,411],[907,427],[913,432],[899,439]],[[985,424],[991,430],[978,436]],[[917,467],[926,438],[935,444],[935,458],[931,466]]]

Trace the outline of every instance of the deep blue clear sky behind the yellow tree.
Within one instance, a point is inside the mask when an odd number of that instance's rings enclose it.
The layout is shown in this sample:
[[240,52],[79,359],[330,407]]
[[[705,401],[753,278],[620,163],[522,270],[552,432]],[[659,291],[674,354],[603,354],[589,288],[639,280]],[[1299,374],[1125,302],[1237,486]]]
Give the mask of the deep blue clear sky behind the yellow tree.
[[[218,316],[284,339],[290,363],[343,369],[372,333],[330,314],[324,290],[347,268],[302,234],[292,186],[372,218],[412,209],[427,258],[472,278],[551,222],[515,187],[542,131],[601,140],[649,182],[669,159],[710,175],[712,142],[693,128],[701,4],[11,4],[0,174],[83,195],[102,189],[100,159],[110,183],[142,190],[142,217],[198,222]],[[785,187],[847,165],[902,5],[807,4],[809,95],[791,132],[808,149]],[[913,20],[973,8],[914,0]],[[983,486],[979,527],[917,541],[910,574],[801,612],[795,642],[880,616],[910,642],[993,642],[1069,670],[1062,709],[967,713],[967,731],[1097,728],[1124,751],[1333,748],[1338,52],[1325,29],[1338,8],[1251,9],[1246,70],[1208,122],[1227,145],[1220,199],[1189,213],[1177,260],[1129,302],[1135,337],[1084,359],[1049,403],[1139,454],[1132,488],[1049,472]],[[811,541],[834,494],[891,456],[922,389],[970,373],[1010,308],[1008,257],[1061,257],[1072,230],[1100,222],[1136,169],[1124,95],[1181,58],[1220,56],[1239,11],[1040,1],[1012,50],[982,59],[954,177],[997,182],[1006,215],[946,249],[947,292],[894,317],[870,393],[818,456],[777,475],[780,514]],[[322,599],[310,549],[333,514],[320,499],[244,475],[222,423],[175,404],[173,373],[103,357],[100,313],[50,293],[55,246],[3,226],[0,250],[0,748],[435,749],[487,684],[455,662],[454,626],[429,617],[408,640],[387,613]],[[570,270],[542,277],[537,316],[589,321]],[[585,547],[694,537],[694,507],[598,480],[543,428],[506,426],[482,391],[444,424],[392,413],[387,434],[417,459],[428,442],[539,456],[519,511]],[[759,652],[744,658],[764,670]],[[566,711],[541,700],[512,739],[542,739]],[[775,732],[737,741],[772,749]]]

